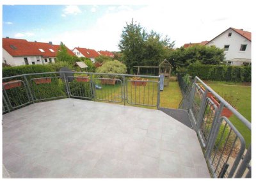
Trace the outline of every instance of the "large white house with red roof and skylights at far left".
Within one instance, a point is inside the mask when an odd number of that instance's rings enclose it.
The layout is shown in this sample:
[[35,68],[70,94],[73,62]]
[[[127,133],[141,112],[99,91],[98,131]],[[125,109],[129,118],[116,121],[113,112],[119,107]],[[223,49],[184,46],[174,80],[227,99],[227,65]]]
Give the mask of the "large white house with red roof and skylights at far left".
[[[11,66],[54,63],[60,45],[3,38],[3,63]],[[68,49],[68,54],[74,53]]]

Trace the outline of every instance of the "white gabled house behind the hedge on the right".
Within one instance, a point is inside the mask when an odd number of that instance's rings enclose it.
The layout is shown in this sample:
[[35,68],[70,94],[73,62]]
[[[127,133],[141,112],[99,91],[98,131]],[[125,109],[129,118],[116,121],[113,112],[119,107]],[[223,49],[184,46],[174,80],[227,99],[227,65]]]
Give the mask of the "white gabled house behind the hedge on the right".
[[228,28],[205,45],[225,49],[227,65],[250,65],[252,63],[252,33],[243,29]]

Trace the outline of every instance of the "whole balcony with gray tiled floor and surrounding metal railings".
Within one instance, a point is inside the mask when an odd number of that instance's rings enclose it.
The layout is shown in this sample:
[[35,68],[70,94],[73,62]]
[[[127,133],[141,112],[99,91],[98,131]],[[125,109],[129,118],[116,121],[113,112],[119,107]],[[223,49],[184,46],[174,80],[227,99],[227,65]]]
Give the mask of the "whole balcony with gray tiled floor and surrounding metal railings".
[[[196,83],[186,87],[183,110],[177,109],[191,118],[191,129],[179,116],[160,111],[159,77],[141,75],[148,80],[134,82],[132,76],[49,72],[3,78],[4,177],[250,177],[250,148],[244,151],[243,137],[218,115],[221,109],[207,113],[219,116],[239,138],[233,164],[214,146],[220,123],[193,119],[208,105],[208,87],[200,101]],[[187,109],[191,101],[193,108]],[[199,127],[204,123],[210,129]]]

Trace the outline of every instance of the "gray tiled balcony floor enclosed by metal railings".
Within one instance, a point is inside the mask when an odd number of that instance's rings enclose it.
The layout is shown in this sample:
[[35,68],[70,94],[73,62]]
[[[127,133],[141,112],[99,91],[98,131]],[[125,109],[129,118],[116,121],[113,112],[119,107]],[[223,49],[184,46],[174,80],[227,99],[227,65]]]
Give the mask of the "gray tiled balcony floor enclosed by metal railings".
[[161,111],[77,99],[3,115],[12,178],[210,177],[196,134]]

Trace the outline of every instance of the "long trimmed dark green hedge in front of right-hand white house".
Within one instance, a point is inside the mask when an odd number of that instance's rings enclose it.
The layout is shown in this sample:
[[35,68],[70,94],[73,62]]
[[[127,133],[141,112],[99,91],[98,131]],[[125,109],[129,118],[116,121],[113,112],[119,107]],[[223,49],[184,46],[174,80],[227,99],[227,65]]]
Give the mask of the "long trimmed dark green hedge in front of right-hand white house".
[[252,67],[226,65],[189,65],[188,74],[209,81],[251,82]]

